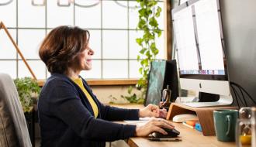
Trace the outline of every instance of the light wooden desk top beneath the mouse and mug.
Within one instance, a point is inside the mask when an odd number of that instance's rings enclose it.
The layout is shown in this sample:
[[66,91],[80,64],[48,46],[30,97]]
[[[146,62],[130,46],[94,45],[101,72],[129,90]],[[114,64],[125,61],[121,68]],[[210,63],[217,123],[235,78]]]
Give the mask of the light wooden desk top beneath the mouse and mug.
[[[111,104],[112,106],[119,107],[119,108],[144,108],[143,105],[140,104]],[[203,147],[225,147],[225,146],[235,146],[235,142],[219,142],[216,139],[215,135],[212,136],[204,136],[202,135],[202,132],[198,132],[193,128],[188,128],[185,125],[182,125],[181,123],[175,123],[175,128],[181,132],[179,135],[180,138],[182,138],[182,142],[150,142],[147,140],[147,138],[140,138],[140,137],[134,137],[129,138],[127,140],[128,145],[131,147],[157,147],[157,146],[170,146],[175,145],[175,147],[178,146],[203,146]]]

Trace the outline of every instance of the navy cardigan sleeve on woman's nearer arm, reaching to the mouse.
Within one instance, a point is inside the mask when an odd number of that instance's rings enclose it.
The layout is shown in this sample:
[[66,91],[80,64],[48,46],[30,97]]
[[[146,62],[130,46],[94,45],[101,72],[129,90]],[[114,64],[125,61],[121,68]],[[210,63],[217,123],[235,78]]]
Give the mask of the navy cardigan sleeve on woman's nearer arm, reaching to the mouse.
[[111,142],[134,136],[136,125],[122,125],[94,118],[78,97],[75,88],[68,81],[55,81],[48,85],[49,111],[51,115],[65,124],[81,138],[92,141]]

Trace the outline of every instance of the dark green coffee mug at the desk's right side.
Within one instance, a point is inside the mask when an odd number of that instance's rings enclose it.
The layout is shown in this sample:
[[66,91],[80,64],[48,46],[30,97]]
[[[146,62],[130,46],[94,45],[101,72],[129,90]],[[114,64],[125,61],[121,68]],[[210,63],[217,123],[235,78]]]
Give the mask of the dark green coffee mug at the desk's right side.
[[215,132],[219,141],[235,141],[235,128],[238,115],[237,110],[220,109],[213,111]]

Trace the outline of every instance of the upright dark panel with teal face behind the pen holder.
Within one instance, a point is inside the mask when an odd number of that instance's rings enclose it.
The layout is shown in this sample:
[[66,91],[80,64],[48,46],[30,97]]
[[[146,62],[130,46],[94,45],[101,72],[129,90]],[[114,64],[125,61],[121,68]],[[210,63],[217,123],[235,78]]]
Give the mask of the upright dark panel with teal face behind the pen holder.
[[144,106],[159,105],[162,91],[169,86],[171,102],[178,97],[178,76],[176,60],[154,60],[150,63],[150,73],[147,78],[147,91]]

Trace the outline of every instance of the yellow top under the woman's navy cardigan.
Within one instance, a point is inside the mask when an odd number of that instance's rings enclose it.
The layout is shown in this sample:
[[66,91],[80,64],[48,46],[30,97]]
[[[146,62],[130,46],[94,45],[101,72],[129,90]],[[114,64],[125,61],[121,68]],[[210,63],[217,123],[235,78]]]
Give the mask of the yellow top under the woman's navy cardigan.
[[86,89],[83,85],[83,81],[81,80],[81,77],[78,79],[72,79],[72,80],[74,81],[75,84],[78,84],[78,86],[81,88],[81,90],[85,93],[85,96],[87,97],[88,101],[90,102],[90,104],[92,106],[92,110],[95,115],[95,118],[97,118],[97,116],[99,115],[99,109],[98,109],[95,101],[92,99],[92,96],[88,93],[88,91],[86,91]]

